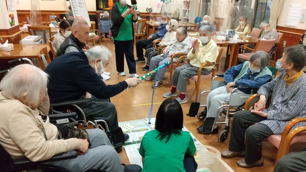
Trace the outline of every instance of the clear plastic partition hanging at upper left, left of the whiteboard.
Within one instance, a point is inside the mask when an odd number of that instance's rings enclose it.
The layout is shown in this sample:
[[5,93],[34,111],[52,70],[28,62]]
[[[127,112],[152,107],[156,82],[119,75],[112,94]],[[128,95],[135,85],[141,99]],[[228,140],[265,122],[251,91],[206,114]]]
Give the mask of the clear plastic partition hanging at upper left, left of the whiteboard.
[[41,19],[40,7],[39,7],[39,0],[31,0],[30,25],[31,26],[43,25],[43,21]]

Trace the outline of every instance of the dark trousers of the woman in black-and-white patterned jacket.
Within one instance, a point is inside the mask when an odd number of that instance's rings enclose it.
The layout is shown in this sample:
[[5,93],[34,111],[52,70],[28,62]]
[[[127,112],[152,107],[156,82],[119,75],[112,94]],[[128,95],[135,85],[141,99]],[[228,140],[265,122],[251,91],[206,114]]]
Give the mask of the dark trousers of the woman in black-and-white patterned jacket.
[[[263,138],[273,135],[267,125],[255,124],[266,119],[253,114],[251,110],[241,110],[234,114],[229,150],[234,152],[245,151],[244,161],[246,163],[254,163],[261,159]],[[252,126],[247,127],[247,125]]]

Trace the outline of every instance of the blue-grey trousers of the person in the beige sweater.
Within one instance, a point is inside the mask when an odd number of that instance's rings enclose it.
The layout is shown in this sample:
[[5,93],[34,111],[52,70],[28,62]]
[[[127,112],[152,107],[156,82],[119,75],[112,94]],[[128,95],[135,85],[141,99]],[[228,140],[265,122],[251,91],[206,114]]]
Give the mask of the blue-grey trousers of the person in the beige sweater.
[[85,155],[50,163],[73,172],[97,170],[103,172],[123,172],[120,155],[110,144],[106,133],[101,129],[87,129],[91,146]]

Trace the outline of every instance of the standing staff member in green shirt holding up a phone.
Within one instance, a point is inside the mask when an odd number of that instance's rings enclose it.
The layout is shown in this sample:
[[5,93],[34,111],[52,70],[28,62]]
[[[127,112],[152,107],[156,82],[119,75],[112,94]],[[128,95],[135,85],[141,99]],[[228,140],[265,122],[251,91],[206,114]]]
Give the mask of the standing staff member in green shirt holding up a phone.
[[[114,36],[116,67],[120,76],[124,73],[124,55],[129,68],[130,77],[139,77],[136,74],[136,62],[134,58],[134,27],[137,22],[136,10],[126,4],[127,0],[118,0],[111,10],[113,21],[112,34]],[[115,33],[115,34],[114,34]],[[118,33],[118,35],[117,35]]]

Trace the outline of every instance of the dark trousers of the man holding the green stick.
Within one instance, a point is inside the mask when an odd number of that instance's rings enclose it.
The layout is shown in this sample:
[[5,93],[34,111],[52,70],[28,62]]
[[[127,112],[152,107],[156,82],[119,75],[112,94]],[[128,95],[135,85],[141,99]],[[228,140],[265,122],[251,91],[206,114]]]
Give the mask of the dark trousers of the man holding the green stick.
[[113,103],[110,103],[110,99],[98,99],[91,95],[92,101],[90,103],[77,104],[85,113],[85,115],[91,116],[96,120],[105,120],[108,126],[119,127],[117,110]]

